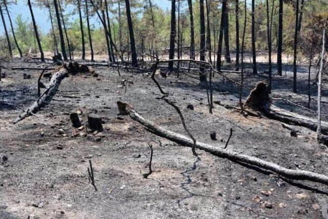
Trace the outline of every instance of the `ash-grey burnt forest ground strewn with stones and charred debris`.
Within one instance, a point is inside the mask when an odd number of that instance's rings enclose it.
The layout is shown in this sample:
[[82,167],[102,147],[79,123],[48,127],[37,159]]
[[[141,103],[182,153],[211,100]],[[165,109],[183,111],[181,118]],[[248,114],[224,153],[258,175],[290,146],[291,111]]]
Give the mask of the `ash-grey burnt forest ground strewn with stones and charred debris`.
[[[7,65],[36,66],[17,59]],[[327,186],[280,179],[270,172],[204,151],[198,151],[200,159],[197,159],[191,148],[159,138],[127,116],[117,116],[116,101],[126,101],[142,116],[187,135],[175,110],[156,99],[159,92],[150,74],[120,70],[119,77],[112,68],[95,69],[98,77],[79,74],[64,79],[47,107],[18,124],[12,121],[20,109],[0,108],[0,154],[8,157],[0,165],[0,218],[324,218],[327,215]],[[40,71],[3,69],[3,72],[7,74],[2,82],[5,101],[25,108],[37,98]],[[31,74],[32,78],[24,80],[23,73]],[[229,77],[239,80],[238,74]],[[219,105],[215,105],[211,115],[206,89],[196,79],[186,75],[177,78],[174,74],[166,79],[157,78],[163,89],[173,94],[170,99],[177,102],[197,141],[223,147],[229,129],[233,128],[228,150],[292,169],[327,174],[328,148],[317,143],[311,130],[294,126],[299,130],[298,137],[291,137],[290,130],[283,128],[281,122],[243,117]],[[299,74],[298,85],[302,89],[294,95],[291,72],[274,76],[273,94],[306,106],[303,88],[306,78],[305,73]],[[122,86],[122,79],[133,84]],[[246,74],[245,84],[254,87],[264,79]],[[215,101],[237,105],[234,83],[216,76],[214,87]],[[315,95],[316,88],[312,87]],[[229,94],[222,93],[226,91]],[[248,94],[244,90],[243,98]],[[327,87],[323,95],[322,112],[327,114]],[[315,100],[311,105],[314,111]],[[274,103],[316,116],[283,100]],[[195,106],[194,111],[187,108],[188,104]],[[81,114],[84,124],[89,113],[99,114],[104,132],[96,134],[73,128],[69,119],[73,111]],[[217,133],[217,141],[210,139],[212,130]],[[153,141],[160,141],[161,145]],[[144,179],[142,174],[147,173],[150,158],[148,143],[154,148],[154,172]],[[88,180],[89,159],[98,191]]]

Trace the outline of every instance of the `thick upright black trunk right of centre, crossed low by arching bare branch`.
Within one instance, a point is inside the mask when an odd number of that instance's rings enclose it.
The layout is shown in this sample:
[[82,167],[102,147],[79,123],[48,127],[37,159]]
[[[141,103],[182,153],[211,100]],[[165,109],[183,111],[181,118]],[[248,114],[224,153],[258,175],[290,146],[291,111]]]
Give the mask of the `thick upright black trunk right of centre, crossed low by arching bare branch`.
[[[205,15],[204,15],[204,0],[199,0],[199,14],[200,14],[200,61],[205,61]],[[206,74],[204,68],[199,68],[199,80],[206,81]]]

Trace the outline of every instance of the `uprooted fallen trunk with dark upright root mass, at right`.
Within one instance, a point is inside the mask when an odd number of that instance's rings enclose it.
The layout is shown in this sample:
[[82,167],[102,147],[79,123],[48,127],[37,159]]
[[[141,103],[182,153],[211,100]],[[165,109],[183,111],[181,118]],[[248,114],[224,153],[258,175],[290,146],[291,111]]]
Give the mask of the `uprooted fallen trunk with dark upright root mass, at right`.
[[[314,131],[317,130],[316,119],[286,111],[273,105],[271,102],[267,84],[258,82],[247,98],[244,107],[263,112],[267,117],[280,122],[303,126]],[[321,122],[321,133],[324,135],[328,134],[328,122]]]

